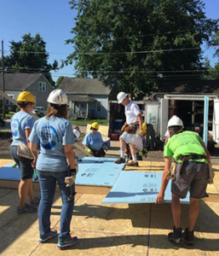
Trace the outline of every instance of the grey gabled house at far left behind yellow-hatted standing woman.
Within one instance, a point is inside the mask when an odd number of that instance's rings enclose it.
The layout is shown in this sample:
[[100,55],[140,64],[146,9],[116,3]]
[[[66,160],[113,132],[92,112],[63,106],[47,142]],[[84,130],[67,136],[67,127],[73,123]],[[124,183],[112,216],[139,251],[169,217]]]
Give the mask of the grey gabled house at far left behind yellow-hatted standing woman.
[[[0,73],[0,90],[3,90],[3,74]],[[54,90],[42,73],[4,73],[4,91],[14,100],[21,91],[30,91],[36,100],[36,106],[47,107],[49,93]],[[5,100],[5,105],[14,104]]]

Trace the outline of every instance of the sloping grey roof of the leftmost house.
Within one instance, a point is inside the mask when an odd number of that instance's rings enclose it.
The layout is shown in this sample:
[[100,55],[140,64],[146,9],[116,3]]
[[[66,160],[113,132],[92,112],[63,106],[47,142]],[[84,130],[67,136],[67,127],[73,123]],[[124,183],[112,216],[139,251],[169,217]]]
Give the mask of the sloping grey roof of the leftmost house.
[[[26,90],[42,73],[4,73],[5,90]],[[0,89],[3,90],[3,74],[0,73]]]

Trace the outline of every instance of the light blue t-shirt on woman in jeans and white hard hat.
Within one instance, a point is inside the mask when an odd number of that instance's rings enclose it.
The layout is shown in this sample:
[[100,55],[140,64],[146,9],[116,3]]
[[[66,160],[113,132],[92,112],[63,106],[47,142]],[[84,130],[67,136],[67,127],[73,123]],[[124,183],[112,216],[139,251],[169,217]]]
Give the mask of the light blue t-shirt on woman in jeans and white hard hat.
[[72,124],[64,118],[51,116],[38,119],[32,128],[30,142],[40,145],[37,170],[64,172],[67,170],[65,145],[75,143]]

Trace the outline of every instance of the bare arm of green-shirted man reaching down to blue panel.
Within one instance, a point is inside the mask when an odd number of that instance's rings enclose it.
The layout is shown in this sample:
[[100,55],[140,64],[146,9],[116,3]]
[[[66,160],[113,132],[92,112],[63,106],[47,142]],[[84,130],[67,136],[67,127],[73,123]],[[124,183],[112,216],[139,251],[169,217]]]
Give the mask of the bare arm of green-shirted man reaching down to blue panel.
[[169,180],[167,179],[167,171],[170,169],[171,163],[172,163],[172,157],[171,156],[165,157],[162,183],[161,183],[161,188],[158,193],[157,200],[155,201],[156,204],[160,204],[160,203],[164,202],[164,193],[165,193],[166,187],[169,183]]

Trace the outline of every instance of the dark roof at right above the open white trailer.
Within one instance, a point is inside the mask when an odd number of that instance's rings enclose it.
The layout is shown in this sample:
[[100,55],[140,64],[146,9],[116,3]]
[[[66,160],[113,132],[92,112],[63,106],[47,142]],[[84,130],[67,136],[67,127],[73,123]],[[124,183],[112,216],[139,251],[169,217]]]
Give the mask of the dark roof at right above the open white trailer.
[[219,80],[193,80],[160,82],[153,92],[159,93],[219,93]]

